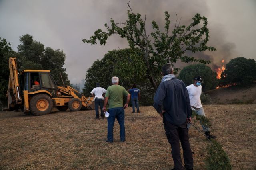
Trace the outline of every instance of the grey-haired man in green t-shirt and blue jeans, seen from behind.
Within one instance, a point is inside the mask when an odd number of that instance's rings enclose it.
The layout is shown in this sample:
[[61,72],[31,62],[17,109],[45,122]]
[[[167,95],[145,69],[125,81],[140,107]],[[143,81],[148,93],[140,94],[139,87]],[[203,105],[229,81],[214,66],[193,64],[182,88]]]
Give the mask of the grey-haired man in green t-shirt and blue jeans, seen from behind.
[[[124,127],[124,109],[128,107],[130,101],[130,94],[124,87],[118,85],[119,78],[112,77],[112,86],[109,86],[105,94],[103,111],[106,111],[106,105],[108,103],[108,139],[106,142],[113,142],[113,127],[115,119],[117,119],[120,125],[120,141],[125,141],[125,127]],[[126,104],[124,105],[123,99],[126,96]]]

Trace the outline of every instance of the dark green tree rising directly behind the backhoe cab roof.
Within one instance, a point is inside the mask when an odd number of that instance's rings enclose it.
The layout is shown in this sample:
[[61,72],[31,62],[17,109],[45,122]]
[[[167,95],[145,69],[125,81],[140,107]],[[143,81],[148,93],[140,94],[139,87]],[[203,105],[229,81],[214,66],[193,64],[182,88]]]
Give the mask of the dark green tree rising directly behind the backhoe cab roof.
[[18,63],[20,70],[51,70],[54,80],[58,85],[62,85],[61,76],[65,85],[70,85],[68,74],[66,73],[65,53],[60,50],[54,50],[50,47],[44,48],[44,45],[33,40],[32,35],[23,35],[20,37],[21,44],[18,46]]

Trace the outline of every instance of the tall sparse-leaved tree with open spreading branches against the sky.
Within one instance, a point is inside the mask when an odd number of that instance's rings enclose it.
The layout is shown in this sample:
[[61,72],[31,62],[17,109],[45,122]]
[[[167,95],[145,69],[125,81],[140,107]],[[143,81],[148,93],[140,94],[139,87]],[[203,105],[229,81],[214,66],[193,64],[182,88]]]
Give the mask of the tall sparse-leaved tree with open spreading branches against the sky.
[[[130,8],[129,4],[128,7]],[[98,29],[90,39],[83,39],[82,42],[94,45],[98,40],[100,45],[105,45],[111,35],[117,34],[121,38],[125,38],[131,49],[138,47],[143,54],[139,57],[141,58],[140,61],[145,65],[145,74],[136,76],[148,78],[154,89],[156,89],[158,83],[158,76],[156,75],[160,73],[161,66],[166,63],[176,63],[179,60],[186,63],[190,61],[204,64],[210,63],[210,61],[186,55],[186,52],[196,53],[198,51],[216,50],[214,47],[206,45],[209,40],[206,17],[196,14],[192,18],[192,23],[187,27],[185,25],[177,25],[176,20],[174,29],[170,31],[170,15],[165,12],[164,32],[161,32],[157,23],[152,21],[152,27],[155,31],[149,36],[145,28],[146,17],[142,19],[140,14],[135,14],[132,11],[132,8],[127,11],[127,14],[128,20],[125,22],[116,23],[111,19],[110,26],[104,25],[106,32]],[[200,24],[201,21],[202,24]],[[125,61],[125,63],[128,63],[128,61]],[[175,70],[177,72],[179,68]]]

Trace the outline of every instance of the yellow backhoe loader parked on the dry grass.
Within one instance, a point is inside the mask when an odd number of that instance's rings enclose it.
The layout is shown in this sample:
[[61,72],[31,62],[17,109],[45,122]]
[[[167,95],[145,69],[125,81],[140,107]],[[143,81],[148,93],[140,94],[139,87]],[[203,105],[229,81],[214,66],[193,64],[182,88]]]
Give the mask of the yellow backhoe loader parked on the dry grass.
[[50,70],[23,70],[18,75],[16,58],[12,57],[9,70],[8,110],[20,108],[26,115],[45,115],[53,107],[60,111],[79,111],[94,101],[70,86],[57,86]]

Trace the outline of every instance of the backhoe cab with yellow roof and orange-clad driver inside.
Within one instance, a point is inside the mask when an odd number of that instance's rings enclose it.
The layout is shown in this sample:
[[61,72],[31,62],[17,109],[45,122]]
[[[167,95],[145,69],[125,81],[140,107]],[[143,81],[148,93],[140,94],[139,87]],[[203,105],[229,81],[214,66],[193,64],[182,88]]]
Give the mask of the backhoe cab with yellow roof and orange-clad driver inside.
[[50,74],[50,70],[23,70],[20,72],[20,92],[28,90],[29,93],[39,90],[48,91],[56,96],[57,85]]

